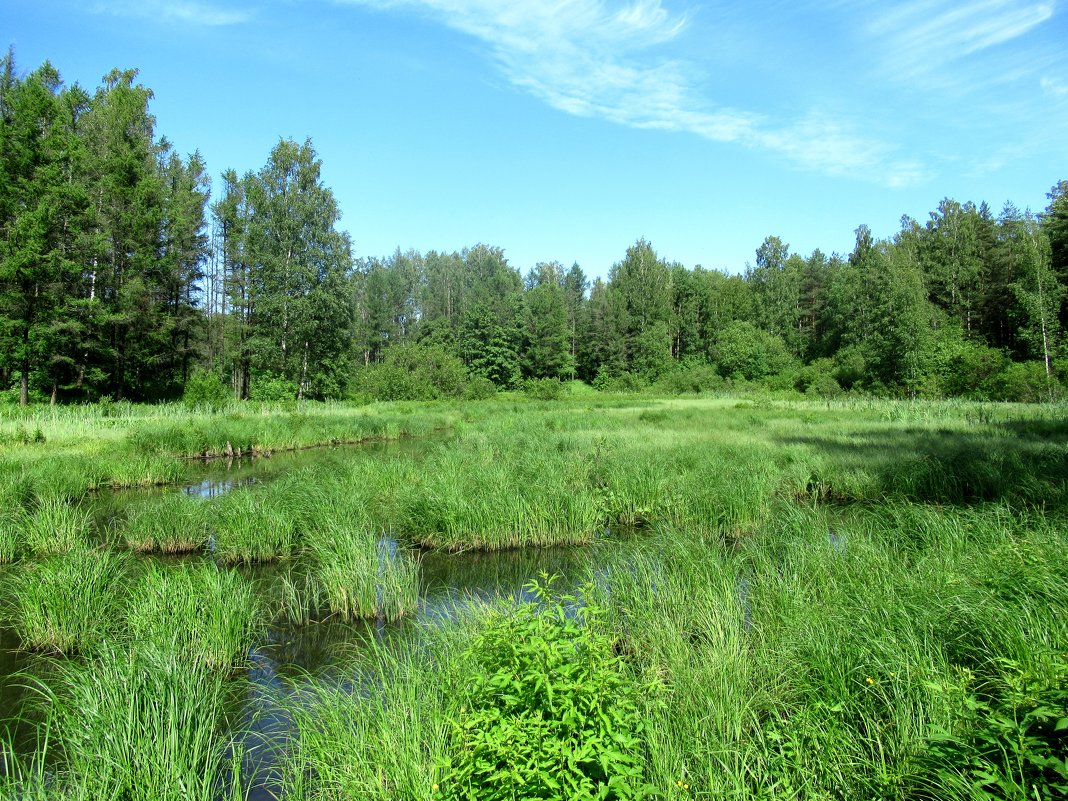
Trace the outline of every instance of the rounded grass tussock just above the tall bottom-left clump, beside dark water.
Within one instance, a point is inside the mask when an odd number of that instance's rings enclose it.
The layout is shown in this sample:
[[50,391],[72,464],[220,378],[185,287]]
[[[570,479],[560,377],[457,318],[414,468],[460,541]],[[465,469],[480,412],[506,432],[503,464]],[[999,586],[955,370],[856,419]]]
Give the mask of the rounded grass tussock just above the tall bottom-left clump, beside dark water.
[[127,627],[135,643],[225,673],[245,662],[264,617],[252,582],[234,570],[153,564],[134,586]]

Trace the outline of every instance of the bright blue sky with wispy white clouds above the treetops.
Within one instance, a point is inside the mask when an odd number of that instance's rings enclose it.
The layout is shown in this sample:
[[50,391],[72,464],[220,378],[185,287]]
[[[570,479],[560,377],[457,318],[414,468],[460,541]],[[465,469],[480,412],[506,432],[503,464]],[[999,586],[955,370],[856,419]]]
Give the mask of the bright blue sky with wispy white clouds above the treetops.
[[739,272],[1068,179],[1068,0],[0,0],[0,43],[139,69],[217,187],[310,138],[357,256]]

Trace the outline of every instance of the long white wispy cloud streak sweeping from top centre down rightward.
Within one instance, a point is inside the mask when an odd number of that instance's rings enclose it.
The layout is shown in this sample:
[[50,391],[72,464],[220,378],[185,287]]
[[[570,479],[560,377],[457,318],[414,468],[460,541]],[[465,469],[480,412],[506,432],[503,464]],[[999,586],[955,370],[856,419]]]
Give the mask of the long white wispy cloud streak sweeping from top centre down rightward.
[[706,97],[700,67],[672,54],[688,18],[661,0],[340,1],[429,14],[482,42],[513,85],[570,114],[764,148],[802,169],[888,186],[922,176],[917,163],[894,158],[893,145],[846,121],[815,112],[776,121]]

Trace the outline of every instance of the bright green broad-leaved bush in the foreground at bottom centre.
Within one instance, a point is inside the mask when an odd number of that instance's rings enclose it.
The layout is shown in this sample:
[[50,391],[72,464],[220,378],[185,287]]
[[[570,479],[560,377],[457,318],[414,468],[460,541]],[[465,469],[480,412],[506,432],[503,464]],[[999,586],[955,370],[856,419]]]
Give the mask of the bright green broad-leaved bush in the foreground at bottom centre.
[[553,593],[490,618],[441,766],[443,799],[640,799],[639,690],[598,626],[600,610]]

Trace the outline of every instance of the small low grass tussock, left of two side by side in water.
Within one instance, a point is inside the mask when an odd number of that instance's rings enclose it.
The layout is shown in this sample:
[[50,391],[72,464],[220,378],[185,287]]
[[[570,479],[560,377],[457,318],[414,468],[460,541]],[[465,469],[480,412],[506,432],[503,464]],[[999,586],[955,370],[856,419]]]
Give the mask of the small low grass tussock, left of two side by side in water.
[[184,492],[168,492],[126,509],[122,538],[142,553],[192,553],[207,544],[208,517],[203,501]]

